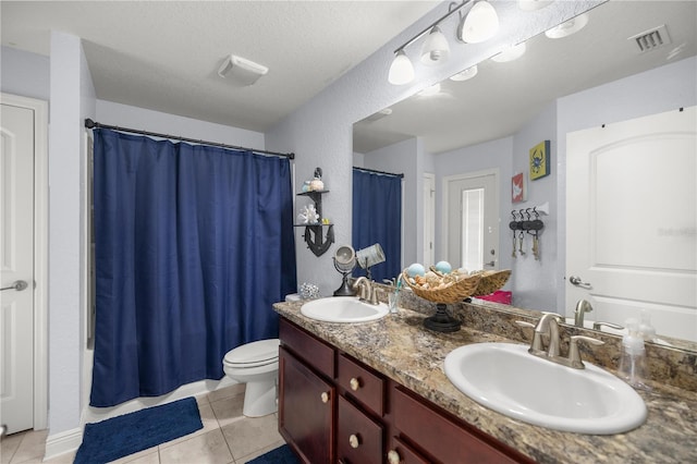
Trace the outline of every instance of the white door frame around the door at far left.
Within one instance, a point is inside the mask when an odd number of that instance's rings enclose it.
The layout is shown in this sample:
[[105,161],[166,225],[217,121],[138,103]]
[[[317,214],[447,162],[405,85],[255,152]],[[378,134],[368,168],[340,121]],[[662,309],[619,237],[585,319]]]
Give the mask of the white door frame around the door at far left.
[[48,101],[1,93],[34,112],[34,429],[48,427]]

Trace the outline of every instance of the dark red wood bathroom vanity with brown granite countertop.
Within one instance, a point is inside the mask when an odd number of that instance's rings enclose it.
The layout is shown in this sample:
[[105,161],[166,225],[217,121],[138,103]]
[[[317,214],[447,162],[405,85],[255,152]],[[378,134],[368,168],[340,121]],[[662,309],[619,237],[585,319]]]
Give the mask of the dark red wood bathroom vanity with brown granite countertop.
[[[305,462],[697,462],[695,391],[655,383],[640,392],[646,423],[625,434],[551,430],[479,405],[443,373],[457,346],[522,340],[466,323],[436,333],[423,327],[428,314],[404,308],[366,323],[322,322],[303,316],[302,304],[273,307],[282,316],[279,431]],[[505,318],[482,323],[524,337]]]

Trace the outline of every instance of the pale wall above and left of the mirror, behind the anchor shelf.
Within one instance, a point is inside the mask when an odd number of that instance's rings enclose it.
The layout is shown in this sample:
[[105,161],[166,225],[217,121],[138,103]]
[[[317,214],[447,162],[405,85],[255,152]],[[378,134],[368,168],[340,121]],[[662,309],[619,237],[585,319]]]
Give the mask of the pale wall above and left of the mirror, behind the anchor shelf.
[[[339,81],[299,108],[286,120],[267,133],[267,147],[273,150],[295,151],[296,175],[305,179],[315,167],[323,170],[323,180],[329,194],[322,197],[322,208],[332,218],[335,243],[328,253],[315,257],[303,243],[299,228],[296,231],[298,283],[318,284],[320,293],[329,295],[337,286],[337,271],[331,257],[338,244],[351,243],[351,168],[353,162],[352,126],[376,111],[455,74],[494,54],[505,45],[518,44],[551,26],[560,24],[598,4],[598,1],[554,2],[548,8],[530,12],[525,24],[516,23],[519,17],[515,2],[500,4],[499,17],[502,24],[511,25],[508,33],[500,33],[485,44],[451,44],[451,58],[442,66],[416,65],[416,78],[406,86],[388,83],[388,70],[393,52],[414,35],[448,11],[449,2],[442,2],[435,11],[408,27],[371,57],[356,65]],[[406,52],[414,58],[418,44],[407,47]],[[414,60],[417,61],[417,60]],[[417,161],[420,178],[424,161]],[[423,181],[417,181],[420,192]],[[420,197],[420,194],[419,194]],[[417,209],[417,220],[423,208]],[[418,236],[417,236],[418,240]]]

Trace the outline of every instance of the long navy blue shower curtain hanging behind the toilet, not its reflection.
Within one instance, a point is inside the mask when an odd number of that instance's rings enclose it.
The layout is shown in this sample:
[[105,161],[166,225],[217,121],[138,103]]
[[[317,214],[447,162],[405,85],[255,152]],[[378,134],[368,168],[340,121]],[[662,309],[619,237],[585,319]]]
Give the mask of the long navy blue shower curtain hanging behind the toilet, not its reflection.
[[223,377],[224,354],[278,337],[296,291],[290,161],[94,132],[90,405]]

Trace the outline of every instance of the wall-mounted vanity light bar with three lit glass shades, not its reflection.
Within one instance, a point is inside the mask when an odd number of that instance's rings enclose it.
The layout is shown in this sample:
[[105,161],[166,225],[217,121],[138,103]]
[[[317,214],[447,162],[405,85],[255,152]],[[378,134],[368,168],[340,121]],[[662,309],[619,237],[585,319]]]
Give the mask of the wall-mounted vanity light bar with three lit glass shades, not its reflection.
[[456,38],[464,42],[475,44],[493,37],[499,29],[499,15],[491,3],[487,0],[477,2],[475,0],[463,0],[460,4],[452,2],[448,8],[448,13],[394,50],[394,60],[388,73],[390,84],[403,85],[414,80],[414,65],[406,56],[405,48],[426,34],[428,34],[428,37],[421,47],[420,61],[426,64],[437,64],[448,59],[450,45],[439,25],[465,5],[470,5],[472,9],[464,17],[461,15],[461,20],[457,23]]

